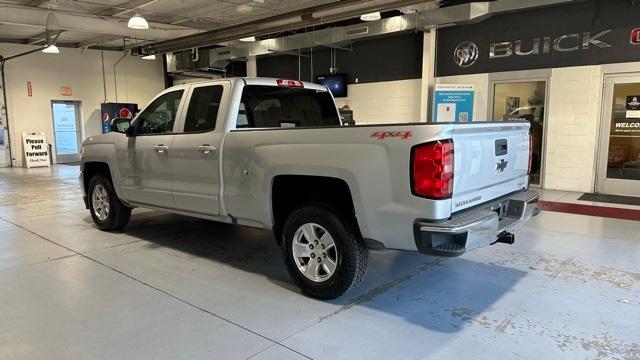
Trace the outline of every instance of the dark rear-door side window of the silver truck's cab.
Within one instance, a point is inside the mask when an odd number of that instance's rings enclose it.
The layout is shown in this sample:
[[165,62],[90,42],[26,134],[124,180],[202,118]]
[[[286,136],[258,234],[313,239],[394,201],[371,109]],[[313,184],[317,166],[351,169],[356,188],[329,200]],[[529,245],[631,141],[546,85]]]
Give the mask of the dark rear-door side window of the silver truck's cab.
[[223,89],[222,85],[201,86],[193,89],[184,122],[185,133],[215,129]]

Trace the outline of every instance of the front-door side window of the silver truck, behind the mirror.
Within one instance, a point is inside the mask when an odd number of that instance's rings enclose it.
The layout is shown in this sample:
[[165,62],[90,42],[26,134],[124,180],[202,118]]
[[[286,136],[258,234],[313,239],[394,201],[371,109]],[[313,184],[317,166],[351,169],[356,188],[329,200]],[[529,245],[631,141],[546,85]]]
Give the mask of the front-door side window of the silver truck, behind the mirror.
[[155,99],[136,119],[138,134],[163,135],[173,133],[180,100],[184,90],[177,90]]

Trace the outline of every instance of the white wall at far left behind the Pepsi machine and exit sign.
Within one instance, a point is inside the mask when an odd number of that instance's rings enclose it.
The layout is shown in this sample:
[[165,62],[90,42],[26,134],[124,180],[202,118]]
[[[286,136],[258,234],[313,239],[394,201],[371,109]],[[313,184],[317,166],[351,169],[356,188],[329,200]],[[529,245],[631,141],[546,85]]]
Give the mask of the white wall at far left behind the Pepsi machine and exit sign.
[[[15,44],[0,44],[0,55],[7,57],[33,49]],[[60,48],[60,54],[36,52],[5,65],[7,107],[14,166],[22,166],[23,131],[44,131],[54,143],[51,100],[81,101],[84,137],[100,134],[100,104],[105,101],[100,51]],[[121,52],[104,51],[107,102],[115,102],[113,65]],[[118,102],[137,103],[140,107],[164,89],[162,62],[127,57],[117,67]],[[33,96],[27,96],[31,81]],[[69,86],[72,96],[60,95],[60,87]],[[55,149],[53,151],[55,161]]]

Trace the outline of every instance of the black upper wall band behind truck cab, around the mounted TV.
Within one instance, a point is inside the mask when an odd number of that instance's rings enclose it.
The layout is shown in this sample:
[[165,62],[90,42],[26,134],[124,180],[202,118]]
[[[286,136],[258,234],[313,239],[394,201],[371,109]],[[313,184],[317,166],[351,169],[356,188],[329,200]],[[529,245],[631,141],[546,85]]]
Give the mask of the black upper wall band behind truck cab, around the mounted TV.
[[[353,52],[336,50],[339,73],[347,73],[350,84],[417,79],[422,77],[422,33],[371,39],[353,44]],[[308,51],[304,55],[310,55]],[[313,77],[328,74],[331,64],[329,49],[314,49]],[[309,57],[300,58],[301,80],[311,79]],[[265,56],[257,60],[258,76],[298,78],[298,57]]]

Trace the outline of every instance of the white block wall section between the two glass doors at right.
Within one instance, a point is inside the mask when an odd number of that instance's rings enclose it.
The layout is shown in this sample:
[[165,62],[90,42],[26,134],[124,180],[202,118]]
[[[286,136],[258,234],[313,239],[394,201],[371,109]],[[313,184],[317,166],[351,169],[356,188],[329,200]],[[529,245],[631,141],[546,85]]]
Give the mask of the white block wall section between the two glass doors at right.
[[601,66],[552,70],[545,123],[545,188],[594,191],[602,84]]

